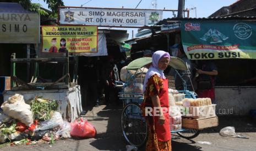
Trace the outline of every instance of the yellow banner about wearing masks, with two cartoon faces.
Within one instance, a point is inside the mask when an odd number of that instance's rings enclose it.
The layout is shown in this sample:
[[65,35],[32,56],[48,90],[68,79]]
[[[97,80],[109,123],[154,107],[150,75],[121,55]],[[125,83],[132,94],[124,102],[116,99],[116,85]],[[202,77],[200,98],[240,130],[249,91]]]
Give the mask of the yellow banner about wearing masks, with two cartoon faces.
[[97,26],[42,26],[43,53],[97,53]]

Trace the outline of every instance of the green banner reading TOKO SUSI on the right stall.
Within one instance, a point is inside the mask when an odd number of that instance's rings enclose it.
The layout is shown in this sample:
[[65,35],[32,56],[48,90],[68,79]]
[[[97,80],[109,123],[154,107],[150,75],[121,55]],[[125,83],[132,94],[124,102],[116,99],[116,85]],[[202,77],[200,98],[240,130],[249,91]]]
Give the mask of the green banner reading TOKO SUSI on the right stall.
[[182,44],[188,59],[256,59],[256,22],[182,21]]

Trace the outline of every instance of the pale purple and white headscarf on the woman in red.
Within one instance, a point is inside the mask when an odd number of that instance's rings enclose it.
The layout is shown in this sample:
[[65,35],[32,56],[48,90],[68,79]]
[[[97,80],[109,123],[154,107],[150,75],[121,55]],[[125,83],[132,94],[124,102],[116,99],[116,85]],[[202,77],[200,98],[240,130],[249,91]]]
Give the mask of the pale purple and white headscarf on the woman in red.
[[152,66],[150,66],[149,71],[146,73],[146,77],[143,83],[143,92],[145,92],[146,83],[148,83],[148,80],[152,75],[157,74],[160,78],[166,79],[164,71],[158,68],[158,62],[162,57],[168,57],[170,59],[170,54],[166,51],[158,50],[155,51],[155,53],[152,55]]

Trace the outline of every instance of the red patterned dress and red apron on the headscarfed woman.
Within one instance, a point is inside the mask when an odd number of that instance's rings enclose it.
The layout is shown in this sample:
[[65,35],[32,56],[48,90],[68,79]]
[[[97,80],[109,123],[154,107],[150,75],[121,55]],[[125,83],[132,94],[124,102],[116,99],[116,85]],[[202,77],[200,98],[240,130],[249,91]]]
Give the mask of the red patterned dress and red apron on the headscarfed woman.
[[[162,108],[169,108],[168,105],[168,79],[161,79],[154,74],[148,79],[144,92],[144,101],[141,104],[141,111],[145,115],[145,107],[153,107],[151,96],[158,95]],[[149,127],[149,138],[146,142],[146,150],[172,150],[170,117],[168,112],[164,113],[165,123],[158,123],[159,116],[145,116]]]

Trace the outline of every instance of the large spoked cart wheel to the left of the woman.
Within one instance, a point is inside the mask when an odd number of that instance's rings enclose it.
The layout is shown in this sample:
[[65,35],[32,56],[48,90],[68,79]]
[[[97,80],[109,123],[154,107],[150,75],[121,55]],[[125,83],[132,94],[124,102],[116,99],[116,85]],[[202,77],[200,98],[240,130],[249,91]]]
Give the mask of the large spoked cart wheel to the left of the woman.
[[141,115],[138,103],[128,103],[121,115],[121,128],[126,141],[136,147],[144,145],[147,139],[147,125]]

